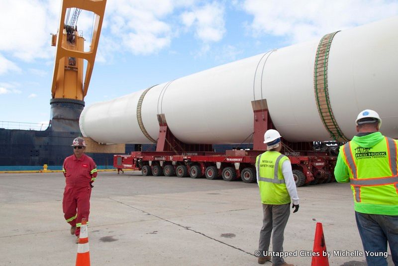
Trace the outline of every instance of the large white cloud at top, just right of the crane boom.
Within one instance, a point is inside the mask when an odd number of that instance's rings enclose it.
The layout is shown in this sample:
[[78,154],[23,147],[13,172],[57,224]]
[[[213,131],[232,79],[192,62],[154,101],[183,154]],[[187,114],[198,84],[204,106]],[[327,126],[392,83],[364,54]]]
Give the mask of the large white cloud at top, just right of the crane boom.
[[196,0],[107,1],[103,27],[108,28],[112,36],[102,36],[108,40],[100,40],[99,61],[106,61],[111,52],[120,51],[120,48],[136,55],[146,55],[169,47],[176,34],[176,25],[173,25],[170,15],[176,9],[190,7],[195,2]]

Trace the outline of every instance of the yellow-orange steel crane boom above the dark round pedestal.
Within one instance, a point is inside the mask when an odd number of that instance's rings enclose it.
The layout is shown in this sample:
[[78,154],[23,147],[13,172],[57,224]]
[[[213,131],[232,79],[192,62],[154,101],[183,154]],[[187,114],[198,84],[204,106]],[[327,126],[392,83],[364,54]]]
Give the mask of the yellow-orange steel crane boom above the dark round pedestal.
[[[89,89],[90,79],[96,59],[98,42],[102,27],[106,0],[63,0],[61,19],[57,35],[53,35],[56,46],[54,74],[51,94],[53,99],[73,99],[83,101]],[[95,13],[90,51],[84,51],[84,38],[76,26],[66,25],[68,8],[78,8]],[[76,17],[74,17],[74,22]],[[83,60],[87,60],[87,69],[83,81]]]

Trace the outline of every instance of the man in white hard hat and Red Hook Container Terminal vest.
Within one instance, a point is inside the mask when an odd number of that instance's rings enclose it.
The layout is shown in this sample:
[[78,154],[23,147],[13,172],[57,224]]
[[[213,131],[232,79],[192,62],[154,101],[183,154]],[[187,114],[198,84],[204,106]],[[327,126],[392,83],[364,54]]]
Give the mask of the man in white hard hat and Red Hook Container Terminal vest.
[[379,132],[380,116],[362,111],[358,134],[340,147],[334,175],[351,183],[355,219],[368,265],[387,266],[387,242],[398,265],[398,141]]

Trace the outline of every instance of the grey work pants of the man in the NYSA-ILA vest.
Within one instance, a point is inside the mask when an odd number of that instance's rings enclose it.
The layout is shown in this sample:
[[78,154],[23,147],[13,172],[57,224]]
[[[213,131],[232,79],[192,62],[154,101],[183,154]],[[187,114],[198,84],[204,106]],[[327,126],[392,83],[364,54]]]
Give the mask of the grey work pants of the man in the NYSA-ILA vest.
[[[290,203],[282,205],[263,204],[263,227],[260,231],[258,250],[261,254],[268,253],[272,232],[272,251],[283,252],[283,234],[290,215]],[[281,265],[282,257],[272,256],[272,263]]]

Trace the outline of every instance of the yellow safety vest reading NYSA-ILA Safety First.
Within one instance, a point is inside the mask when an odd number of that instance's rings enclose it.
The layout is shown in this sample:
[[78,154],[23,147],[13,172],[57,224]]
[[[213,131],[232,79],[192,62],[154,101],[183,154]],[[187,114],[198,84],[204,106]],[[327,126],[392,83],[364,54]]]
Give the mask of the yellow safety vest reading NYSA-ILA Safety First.
[[263,204],[290,203],[290,195],[282,173],[282,164],[286,160],[289,158],[278,151],[266,151],[257,156],[258,185]]

